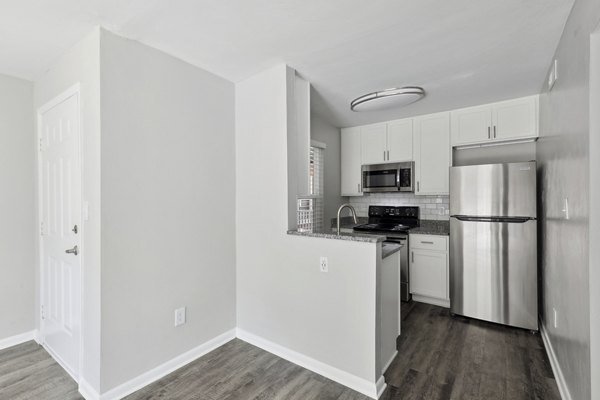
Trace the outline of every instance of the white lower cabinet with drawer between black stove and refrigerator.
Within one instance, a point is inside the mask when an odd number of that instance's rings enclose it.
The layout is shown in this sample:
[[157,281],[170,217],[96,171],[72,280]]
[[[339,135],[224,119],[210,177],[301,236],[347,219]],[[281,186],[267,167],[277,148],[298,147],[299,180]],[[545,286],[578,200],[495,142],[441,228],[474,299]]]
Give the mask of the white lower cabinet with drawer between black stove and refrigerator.
[[413,300],[450,307],[448,236],[411,234],[409,247]]

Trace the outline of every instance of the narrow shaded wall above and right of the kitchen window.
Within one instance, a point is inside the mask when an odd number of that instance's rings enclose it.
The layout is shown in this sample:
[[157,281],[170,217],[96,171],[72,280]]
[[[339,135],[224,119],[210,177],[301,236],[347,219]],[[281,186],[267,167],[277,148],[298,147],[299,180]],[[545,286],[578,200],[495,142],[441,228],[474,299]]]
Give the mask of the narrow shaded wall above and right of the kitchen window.
[[[329,228],[331,219],[337,217],[337,210],[343,203],[348,202],[347,197],[340,196],[341,188],[341,136],[340,128],[331,125],[322,117],[312,113],[310,116],[311,139],[325,143],[325,175],[323,177],[325,205],[324,227]],[[344,212],[344,215],[346,212]]]

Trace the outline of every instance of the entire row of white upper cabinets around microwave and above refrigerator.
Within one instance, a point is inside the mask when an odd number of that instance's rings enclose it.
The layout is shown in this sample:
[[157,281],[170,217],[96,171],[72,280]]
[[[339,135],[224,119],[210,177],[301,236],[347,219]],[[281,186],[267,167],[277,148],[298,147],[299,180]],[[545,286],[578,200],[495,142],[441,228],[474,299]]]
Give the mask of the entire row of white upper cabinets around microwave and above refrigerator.
[[538,96],[342,129],[342,196],[362,196],[361,166],[415,162],[415,194],[447,195],[453,146],[538,137]]

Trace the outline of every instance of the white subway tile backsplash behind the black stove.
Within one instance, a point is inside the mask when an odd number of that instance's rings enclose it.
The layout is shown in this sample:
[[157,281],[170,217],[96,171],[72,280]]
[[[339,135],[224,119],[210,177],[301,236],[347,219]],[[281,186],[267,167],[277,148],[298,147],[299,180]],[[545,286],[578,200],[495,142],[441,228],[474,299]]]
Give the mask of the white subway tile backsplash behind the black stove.
[[417,206],[421,219],[449,220],[448,196],[415,196],[414,193],[365,193],[361,197],[350,197],[350,204],[361,217],[366,217],[369,206]]

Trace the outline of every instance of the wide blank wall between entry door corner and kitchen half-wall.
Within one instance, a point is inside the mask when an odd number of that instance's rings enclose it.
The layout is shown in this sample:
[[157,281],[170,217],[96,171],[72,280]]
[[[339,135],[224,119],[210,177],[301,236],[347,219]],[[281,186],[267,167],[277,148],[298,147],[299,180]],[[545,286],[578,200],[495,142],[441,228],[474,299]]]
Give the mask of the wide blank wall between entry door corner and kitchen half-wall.
[[105,392],[235,328],[236,160],[232,83],[105,31],[101,75]]

